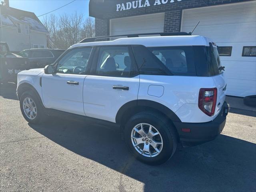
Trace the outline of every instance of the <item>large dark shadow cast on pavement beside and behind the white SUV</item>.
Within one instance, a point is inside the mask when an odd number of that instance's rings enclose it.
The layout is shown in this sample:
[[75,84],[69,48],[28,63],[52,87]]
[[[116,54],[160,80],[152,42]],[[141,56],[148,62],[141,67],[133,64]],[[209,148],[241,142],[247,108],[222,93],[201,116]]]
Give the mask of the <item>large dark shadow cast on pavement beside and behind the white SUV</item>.
[[120,134],[106,128],[50,120],[29,124],[57,144],[144,183],[144,191],[255,191],[256,144],[220,135],[200,146],[181,148],[160,166],[135,160]]

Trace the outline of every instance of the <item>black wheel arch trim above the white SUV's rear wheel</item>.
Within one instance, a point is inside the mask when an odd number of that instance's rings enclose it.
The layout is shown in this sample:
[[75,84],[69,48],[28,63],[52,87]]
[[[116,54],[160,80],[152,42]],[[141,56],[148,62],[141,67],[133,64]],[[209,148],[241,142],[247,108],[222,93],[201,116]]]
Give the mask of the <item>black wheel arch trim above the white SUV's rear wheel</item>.
[[181,122],[180,118],[168,107],[164,106],[163,104],[160,104],[155,101],[150,101],[150,100],[132,100],[130,102],[127,102],[124,104],[117,112],[116,114],[116,123],[121,124],[121,120],[125,112],[132,108],[132,107],[137,107],[137,106],[145,106],[145,107],[150,107],[155,110],[158,110],[162,113],[164,113],[170,120],[176,121],[176,122]]

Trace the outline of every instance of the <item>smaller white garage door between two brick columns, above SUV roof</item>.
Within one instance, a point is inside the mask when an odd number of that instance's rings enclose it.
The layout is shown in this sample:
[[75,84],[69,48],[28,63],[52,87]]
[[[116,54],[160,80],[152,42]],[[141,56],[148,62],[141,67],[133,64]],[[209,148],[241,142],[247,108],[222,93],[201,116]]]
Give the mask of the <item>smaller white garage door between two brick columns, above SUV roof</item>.
[[164,13],[110,20],[110,35],[164,32]]

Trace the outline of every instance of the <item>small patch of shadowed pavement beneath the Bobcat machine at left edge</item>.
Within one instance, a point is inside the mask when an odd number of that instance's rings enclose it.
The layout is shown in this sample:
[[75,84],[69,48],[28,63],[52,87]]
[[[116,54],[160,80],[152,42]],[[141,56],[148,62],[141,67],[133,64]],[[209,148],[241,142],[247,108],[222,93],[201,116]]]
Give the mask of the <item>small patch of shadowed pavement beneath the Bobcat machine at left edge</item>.
[[0,84],[0,96],[6,99],[18,100],[16,88],[17,85],[14,83]]

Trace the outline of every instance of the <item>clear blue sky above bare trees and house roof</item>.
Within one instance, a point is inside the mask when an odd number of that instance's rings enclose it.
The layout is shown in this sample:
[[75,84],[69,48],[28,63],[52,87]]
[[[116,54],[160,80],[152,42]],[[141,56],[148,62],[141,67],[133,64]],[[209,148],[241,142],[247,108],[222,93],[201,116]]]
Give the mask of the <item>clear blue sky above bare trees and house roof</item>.
[[[72,2],[72,0],[9,0],[10,7],[34,12],[36,16],[50,12],[69,2]],[[89,16],[89,0],[76,0],[50,14],[72,14],[75,11],[84,14],[84,17],[87,18]],[[41,16],[39,19],[43,20],[43,17],[45,16]]]

